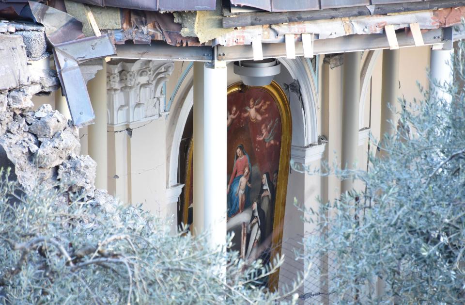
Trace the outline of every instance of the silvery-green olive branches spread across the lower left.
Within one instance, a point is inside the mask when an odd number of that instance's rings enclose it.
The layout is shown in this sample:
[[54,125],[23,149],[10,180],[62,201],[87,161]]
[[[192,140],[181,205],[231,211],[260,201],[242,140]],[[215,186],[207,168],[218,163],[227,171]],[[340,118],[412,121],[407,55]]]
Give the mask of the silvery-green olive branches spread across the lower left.
[[[25,194],[15,182],[0,181],[0,304],[263,304],[282,298],[257,284],[276,271],[279,258],[273,266],[246,265],[237,253],[209,249],[205,236],[170,235],[140,207],[82,198],[58,204],[59,190]],[[220,267],[226,264],[227,279]]]

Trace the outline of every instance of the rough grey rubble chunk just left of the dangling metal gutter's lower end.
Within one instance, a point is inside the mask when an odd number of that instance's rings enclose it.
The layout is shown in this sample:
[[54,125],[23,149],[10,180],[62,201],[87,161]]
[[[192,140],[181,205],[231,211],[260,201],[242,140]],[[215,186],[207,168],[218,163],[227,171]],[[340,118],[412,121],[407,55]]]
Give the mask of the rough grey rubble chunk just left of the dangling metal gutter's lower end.
[[52,106],[45,104],[34,114],[37,120],[31,124],[29,130],[39,137],[51,138],[58,131],[63,130],[68,120],[60,112],[52,110]]

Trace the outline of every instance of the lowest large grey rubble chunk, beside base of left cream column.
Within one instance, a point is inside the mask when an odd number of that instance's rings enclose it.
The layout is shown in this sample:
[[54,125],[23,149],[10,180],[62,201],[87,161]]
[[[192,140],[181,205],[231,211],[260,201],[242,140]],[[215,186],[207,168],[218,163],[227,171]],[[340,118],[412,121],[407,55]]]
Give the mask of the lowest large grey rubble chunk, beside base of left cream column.
[[94,196],[95,170],[97,163],[89,156],[80,155],[76,159],[64,161],[58,167],[58,179],[65,185],[70,185],[73,193],[85,192]]

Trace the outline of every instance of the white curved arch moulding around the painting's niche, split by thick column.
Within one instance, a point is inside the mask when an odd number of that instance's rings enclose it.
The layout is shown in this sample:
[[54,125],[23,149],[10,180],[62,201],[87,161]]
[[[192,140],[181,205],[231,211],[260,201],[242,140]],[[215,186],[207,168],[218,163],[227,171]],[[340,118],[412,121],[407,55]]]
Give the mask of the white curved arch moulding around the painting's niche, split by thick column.
[[[281,87],[293,80],[298,80],[300,95],[285,90],[290,100],[292,117],[292,145],[305,147],[318,143],[318,85],[310,72],[310,66],[304,58],[286,59],[280,58],[282,64],[281,73],[275,80]],[[232,62],[228,63],[228,85],[240,80],[233,73]],[[180,183],[178,181],[179,145],[186,126],[186,120],[193,107],[193,69],[189,65],[184,79],[179,83],[175,96],[172,96],[172,104],[167,122],[166,149],[167,186],[171,188]],[[182,183],[182,182],[181,182]]]

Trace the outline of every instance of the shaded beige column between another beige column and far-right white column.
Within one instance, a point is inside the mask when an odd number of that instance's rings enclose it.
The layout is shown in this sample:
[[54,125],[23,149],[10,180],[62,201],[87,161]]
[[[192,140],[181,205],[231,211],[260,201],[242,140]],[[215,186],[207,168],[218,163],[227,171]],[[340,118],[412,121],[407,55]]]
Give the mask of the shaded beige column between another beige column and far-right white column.
[[[393,135],[397,129],[397,109],[399,101],[399,58],[400,50],[383,50],[383,70],[381,84],[381,138]],[[382,142],[381,142],[382,143]],[[382,145],[381,145],[382,146]],[[385,154],[381,149],[381,155]]]

